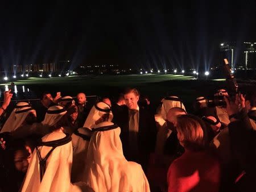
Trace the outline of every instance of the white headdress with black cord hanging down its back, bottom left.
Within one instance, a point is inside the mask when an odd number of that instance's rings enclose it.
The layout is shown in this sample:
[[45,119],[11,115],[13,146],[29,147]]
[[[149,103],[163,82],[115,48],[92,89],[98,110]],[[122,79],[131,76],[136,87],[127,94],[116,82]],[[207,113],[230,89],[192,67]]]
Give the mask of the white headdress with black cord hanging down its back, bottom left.
[[[42,138],[43,142],[61,140],[66,135],[61,132],[52,132]],[[46,157],[52,147],[39,147],[38,151],[42,158]],[[46,160],[46,169],[40,181],[39,155],[34,150],[30,165],[28,166],[26,178],[22,191],[38,192],[65,192],[82,191],[78,186],[72,185],[70,180],[72,165],[72,144],[59,145],[50,153]]]

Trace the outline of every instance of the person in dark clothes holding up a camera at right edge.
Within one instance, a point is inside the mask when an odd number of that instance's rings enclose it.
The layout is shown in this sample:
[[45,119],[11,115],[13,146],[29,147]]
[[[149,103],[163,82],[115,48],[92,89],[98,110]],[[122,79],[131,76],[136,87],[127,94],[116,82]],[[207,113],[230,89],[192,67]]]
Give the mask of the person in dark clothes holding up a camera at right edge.
[[[234,160],[237,162],[234,169],[241,173],[240,176],[237,174],[236,179],[236,188],[240,191],[256,191],[256,122],[253,120],[255,118],[253,112],[250,112],[254,110],[255,96],[249,97],[247,94],[244,98],[243,95],[237,95],[236,102],[230,102],[228,98],[225,98],[230,118],[228,125],[230,147]],[[239,110],[240,107],[241,110]],[[250,110],[249,113],[247,113],[248,110]]]

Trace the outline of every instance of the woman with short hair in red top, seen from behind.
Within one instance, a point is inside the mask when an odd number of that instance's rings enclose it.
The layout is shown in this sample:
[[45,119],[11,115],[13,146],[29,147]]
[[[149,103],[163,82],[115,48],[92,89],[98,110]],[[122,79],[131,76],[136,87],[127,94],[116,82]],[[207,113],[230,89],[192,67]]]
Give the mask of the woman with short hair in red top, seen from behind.
[[177,138],[185,153],[172,162],[168,170],[168,192],[218,191],[220,165],[206,150],[208,141],[204,123],[192,115],[179,116]]

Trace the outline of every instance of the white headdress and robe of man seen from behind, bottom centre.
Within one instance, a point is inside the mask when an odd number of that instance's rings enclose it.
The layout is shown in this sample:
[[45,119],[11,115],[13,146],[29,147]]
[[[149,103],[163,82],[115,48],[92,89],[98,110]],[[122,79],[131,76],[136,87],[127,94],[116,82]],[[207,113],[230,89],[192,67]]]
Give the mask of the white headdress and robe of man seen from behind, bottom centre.
[[86,184],[101,192],[150,191],[141,165],[123,156],[121,129],[111,122],[102,122],[94,130],[86,160]]

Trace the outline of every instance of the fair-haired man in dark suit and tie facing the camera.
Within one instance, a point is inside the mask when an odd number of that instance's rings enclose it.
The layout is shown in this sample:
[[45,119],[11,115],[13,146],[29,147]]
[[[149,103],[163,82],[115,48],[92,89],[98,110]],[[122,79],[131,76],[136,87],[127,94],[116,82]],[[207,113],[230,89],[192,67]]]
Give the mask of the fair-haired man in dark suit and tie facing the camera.
[[156,126],[154,115],[139,108],[139,92],[128,88],[124,91],[126,107],[114,114],[113,122],[121,128],[123,153],[128,161],[135,161],[145,169],[150,152],[154,151]]

